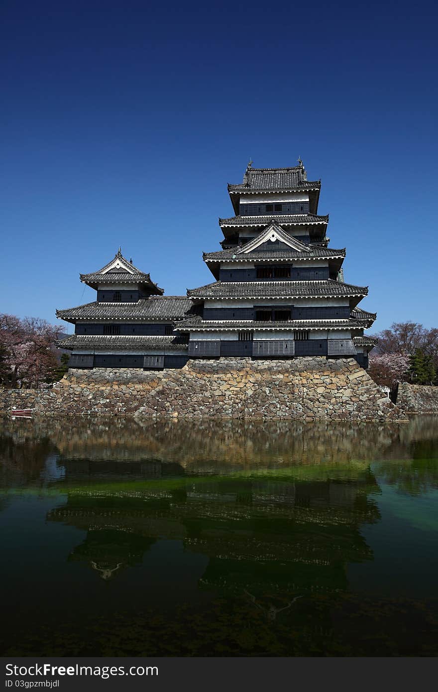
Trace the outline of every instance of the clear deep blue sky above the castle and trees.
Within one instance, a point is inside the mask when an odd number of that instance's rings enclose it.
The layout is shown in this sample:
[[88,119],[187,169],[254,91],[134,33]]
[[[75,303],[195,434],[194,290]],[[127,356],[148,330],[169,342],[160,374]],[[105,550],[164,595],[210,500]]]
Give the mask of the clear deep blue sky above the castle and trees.
[[301,156],[374,331],[438,326],[437,19],[403,1],[3,0],[0,311],[56,322],[119,245],[167,295],[212,281],[226,184],[250,157]]

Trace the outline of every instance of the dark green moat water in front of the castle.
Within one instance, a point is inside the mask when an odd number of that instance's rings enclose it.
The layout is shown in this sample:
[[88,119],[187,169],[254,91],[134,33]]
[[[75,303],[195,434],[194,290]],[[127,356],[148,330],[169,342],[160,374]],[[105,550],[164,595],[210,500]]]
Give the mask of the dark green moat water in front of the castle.
[[438,419],[3,419],[1,655],[436,655]]

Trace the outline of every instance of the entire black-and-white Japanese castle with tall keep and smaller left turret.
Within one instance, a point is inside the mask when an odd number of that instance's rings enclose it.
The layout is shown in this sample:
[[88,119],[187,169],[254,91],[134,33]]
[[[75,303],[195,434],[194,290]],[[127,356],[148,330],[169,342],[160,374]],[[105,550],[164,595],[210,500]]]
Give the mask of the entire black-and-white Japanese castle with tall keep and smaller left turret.
[[375,313],[358,308],[366,286],[347,284],[345,248],[329,248],[328,216],[318,215],[320,181],[304,165],[253,168],[228,185],[235,216],[219,219],[222,249],[203,254],[215,281],[187,295],[163,295],[120,248],[98,271],[81,274],[96,300],[57,310],[75,325],[58,345],[69,367],[183,367],[221,356],[355,358],[375,341]]

